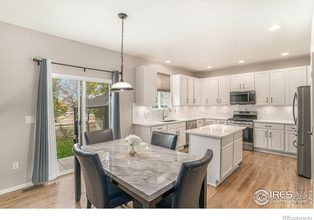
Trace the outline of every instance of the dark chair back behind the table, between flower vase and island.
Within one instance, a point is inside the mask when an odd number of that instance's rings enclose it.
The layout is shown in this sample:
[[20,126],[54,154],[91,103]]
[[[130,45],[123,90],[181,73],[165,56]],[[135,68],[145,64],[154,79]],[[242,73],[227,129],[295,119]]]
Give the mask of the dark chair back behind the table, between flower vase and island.
[[151,144],[176,150],[178,135],[165,132],[152,132]]

